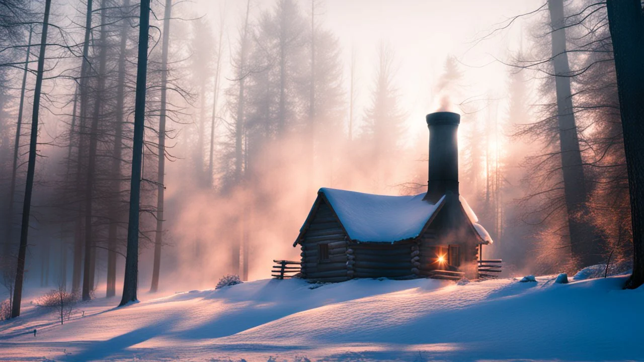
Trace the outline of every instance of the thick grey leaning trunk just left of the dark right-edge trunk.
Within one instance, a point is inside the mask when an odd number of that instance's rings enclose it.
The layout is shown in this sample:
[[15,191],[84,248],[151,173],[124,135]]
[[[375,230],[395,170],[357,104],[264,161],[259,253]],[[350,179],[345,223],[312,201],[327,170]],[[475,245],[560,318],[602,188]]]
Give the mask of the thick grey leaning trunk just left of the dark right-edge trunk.
[[564,194],[568,215],[571,251],[580,267],[603,261],[604,245],[587,222],[588,191],[583,175],[582,153],[579,148],[574,119],[573,96],[570,85],[570,67],[566,53],[565,16],[563,0],[549,0],[553,47],[554,81],[557,95],[557,118],[561,148]]

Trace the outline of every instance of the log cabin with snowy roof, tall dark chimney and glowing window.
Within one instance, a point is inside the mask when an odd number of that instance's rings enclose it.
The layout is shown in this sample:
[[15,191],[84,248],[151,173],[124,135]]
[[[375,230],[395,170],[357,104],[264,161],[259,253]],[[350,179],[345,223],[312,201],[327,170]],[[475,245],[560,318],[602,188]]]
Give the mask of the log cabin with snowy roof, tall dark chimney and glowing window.
[[419,278],[438,271],[478,277],[482,245],[493,242],[459,195],[460,115],[430,113],[426,193],[384,196],[321,188],[293,243],[312,281]]

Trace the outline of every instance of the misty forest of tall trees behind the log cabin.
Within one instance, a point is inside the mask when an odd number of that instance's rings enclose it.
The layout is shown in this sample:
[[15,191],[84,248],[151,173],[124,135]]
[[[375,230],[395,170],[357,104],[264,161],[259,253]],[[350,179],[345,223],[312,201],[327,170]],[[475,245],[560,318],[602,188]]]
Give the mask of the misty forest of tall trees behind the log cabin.
[[377,3],[0,0],[0,318],[268,278],[320,187],[424,192],[437,110],[504,276],[641,285],[641,2]]

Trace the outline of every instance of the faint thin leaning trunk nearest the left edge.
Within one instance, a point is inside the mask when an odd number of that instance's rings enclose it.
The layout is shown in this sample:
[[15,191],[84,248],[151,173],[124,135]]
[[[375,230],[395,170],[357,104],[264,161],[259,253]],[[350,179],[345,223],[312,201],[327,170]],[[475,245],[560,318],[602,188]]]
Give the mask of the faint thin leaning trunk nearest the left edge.
[[24,89],[27,84],[27,73],[29,70],[29,55],[32,51],[32,35],[33,26],[29,28],[29,42],[27,45],[27,55],[24,59],[24,72],[23,72],[23,85],[20,90],[20,105],[18,106],[18,122],[15,126],[15,142],[14,142],[14,164],[11,169],[11,186],[9,189],[9,204],[6,217],[6,239],[5,239],[5,252],[3,255],[10,256],[12,254],[12,234],[14,229],[14,196],[15,196],[15,176],[18,170],[18,149],[20,148],[20,133],[23,128],[23,106],[24,106]]

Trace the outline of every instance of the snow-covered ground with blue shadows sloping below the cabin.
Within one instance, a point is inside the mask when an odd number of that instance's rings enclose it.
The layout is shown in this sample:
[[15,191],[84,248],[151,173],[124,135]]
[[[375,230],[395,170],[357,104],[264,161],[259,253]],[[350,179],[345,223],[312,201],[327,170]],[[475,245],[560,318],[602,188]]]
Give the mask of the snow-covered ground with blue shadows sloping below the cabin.
[[123,308],[99,298],[64,325],[26,301],[0,322],[0,360],[644,360],[644,287],[555,277],[258,280]]

